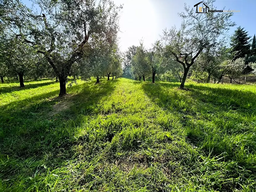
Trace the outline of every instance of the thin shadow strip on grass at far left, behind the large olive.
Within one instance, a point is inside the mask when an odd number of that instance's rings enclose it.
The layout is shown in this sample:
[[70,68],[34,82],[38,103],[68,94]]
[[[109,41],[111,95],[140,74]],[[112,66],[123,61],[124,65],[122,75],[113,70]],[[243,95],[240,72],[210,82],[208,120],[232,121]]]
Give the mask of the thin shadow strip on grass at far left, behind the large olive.
[[[29,81],[29,82],[31,82],[31,81]],[[33,81],[33,82],[35,82],[35,81]],[[11,93],[13,91],[22,91],[22,90],[26,90],[26,89],[34,89],[34,88],[37,88],[37,87],[43,87],[43,86],[51,85],[51,84],[58,83],[58,82],[52,81],[52,82],[32,83],[32,84],[26,84],[26,82],[24,82],[24,83],[25,83],[25,87],[19,87],[19,86],[12,86],[12,87],[3,86],[3,87],[0,87],[0,94],[1,93],[2,94],[3,93]]]

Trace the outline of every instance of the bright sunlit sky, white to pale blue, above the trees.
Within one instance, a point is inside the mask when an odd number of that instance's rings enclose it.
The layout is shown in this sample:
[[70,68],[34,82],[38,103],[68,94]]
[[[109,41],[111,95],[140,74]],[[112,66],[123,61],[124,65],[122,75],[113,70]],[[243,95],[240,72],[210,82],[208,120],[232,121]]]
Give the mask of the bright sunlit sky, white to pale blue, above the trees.
[[[117,5],[124,4],[120,18],[120,48],[125,51],[129,46],[139,45],[141,39],[149,48],[159,39],[163,29],[172,26],[179,28],[181,19],[178,13],[184,11],[184,3],[194,8],[202,0],[113,0]],[[31,5],[29,0],[23,0]],[[217,9],[240,10],[234,13],[232,21],[236,26],[230,29],[232,34],[238,26],[242,26],[250,36],[256,34],[255,8],[256,0],[216,0]]]

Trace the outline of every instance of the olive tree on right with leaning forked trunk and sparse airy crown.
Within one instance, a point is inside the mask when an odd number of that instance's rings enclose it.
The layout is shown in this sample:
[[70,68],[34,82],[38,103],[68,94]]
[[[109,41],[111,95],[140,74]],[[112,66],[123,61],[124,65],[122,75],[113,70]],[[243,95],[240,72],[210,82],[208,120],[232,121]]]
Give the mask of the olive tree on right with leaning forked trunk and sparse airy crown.
[[[213,8],[214,0],[204,2]],[[185,12],[179,13],[182,19],[181,27],[164,30],[162,41],[165,48],[174,59],[182,65],[184,73],[180,89],[184,84],[189,68],[194,64],[199,54],[214,46],[221,46],[227,38],[227,31],[235,23],[230,20],[231,12],[196,13],[195,9],[184,6]]]

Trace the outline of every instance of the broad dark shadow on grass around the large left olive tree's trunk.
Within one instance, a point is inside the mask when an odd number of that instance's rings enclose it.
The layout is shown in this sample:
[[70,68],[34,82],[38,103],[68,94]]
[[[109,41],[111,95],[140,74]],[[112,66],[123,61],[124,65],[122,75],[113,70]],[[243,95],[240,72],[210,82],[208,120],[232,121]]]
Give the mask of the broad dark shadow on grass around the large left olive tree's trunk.
[[[56,169],[70,159],[74,155],[72,147],[78,142],[75,135],[79,126],[86,122],[86,115],[97,114],[94,110],[97,103],[114,91],[116,83],[102,80],[97,85],[89,82],[68,88],[71,106],[53,116],[48,115],[49,111],[65,98],[58,101],[48,98],[57,96],[59,90],[1,106],[0,157],[6,163],[0,166],[0,176],[3,180],[8,178],[5,184],[11,186],[19,177],[17,173],[32,177],[41,161]],[[37,174],[45,171],[40,167]]]

